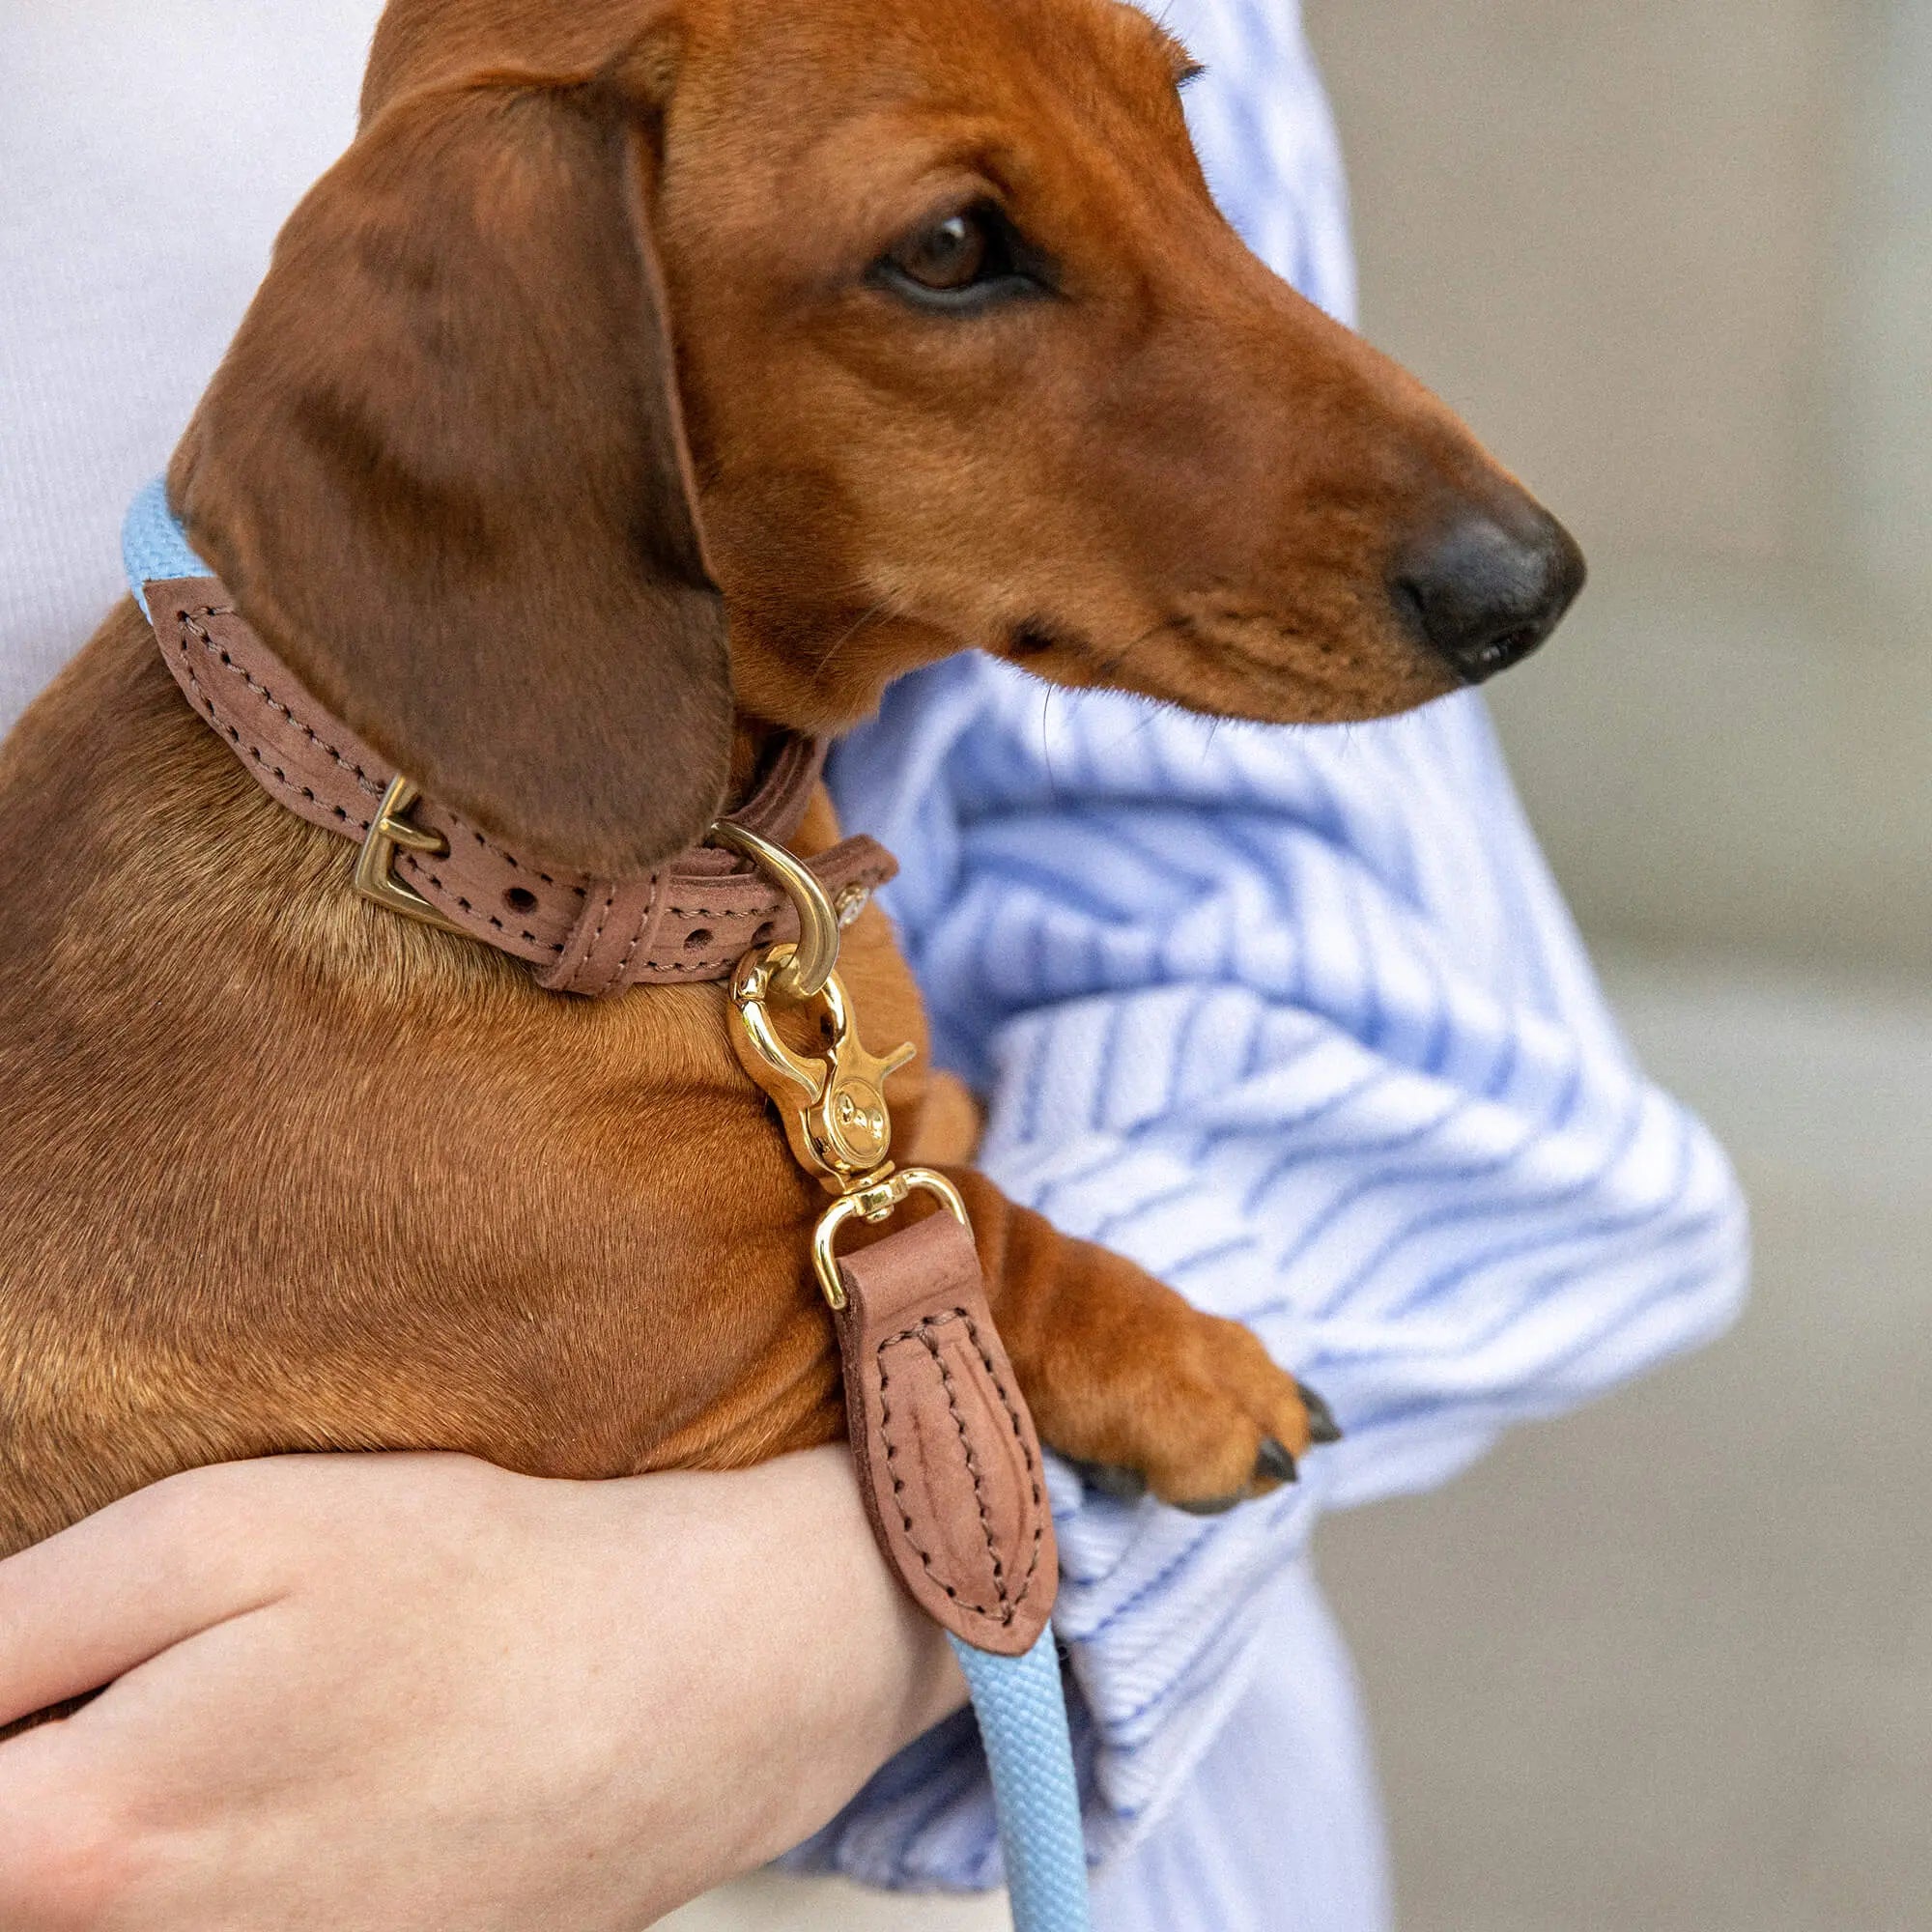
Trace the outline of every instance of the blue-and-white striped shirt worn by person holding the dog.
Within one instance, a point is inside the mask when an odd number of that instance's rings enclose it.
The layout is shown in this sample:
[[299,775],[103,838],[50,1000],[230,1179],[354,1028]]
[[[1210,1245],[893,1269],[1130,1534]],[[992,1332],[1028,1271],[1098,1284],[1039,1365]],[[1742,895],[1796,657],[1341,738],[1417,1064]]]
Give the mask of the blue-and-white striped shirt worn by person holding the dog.
[[[1289,0],[1173,0],[1188,112],[1256,249],[1345,319],[1341,166]],[[1418,1490],[1718,1331],[1745,1213],[1607,1014],[1474,696],[1209,724],[985,659],[898,684],[835,765],[981,1165],[1254,1325],[1349,1439],[1231,1517],[1055,1470],[1076,1741],[1113,1932],[1372,1932],[1381,1835],[1323,1507]],[[997,1884],[970,1719],[804,1849]]]

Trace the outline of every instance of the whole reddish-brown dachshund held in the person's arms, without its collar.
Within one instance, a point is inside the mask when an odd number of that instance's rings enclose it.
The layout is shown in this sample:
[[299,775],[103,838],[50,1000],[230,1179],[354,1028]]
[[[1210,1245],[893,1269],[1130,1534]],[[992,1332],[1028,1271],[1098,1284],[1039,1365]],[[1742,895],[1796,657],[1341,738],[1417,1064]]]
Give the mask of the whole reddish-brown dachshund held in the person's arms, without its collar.
[[[425,792],[618,879],[968,645],[1267,721],[1520,657],[1575,547],[1240,245],[1184,71],[1115,0],[394,0],[174,502]],[[723,989],[568,999],[352,896],[131,603],[0,759],[0,1551],[267,1451],[840,1432]],[[877,912],[842,972],[923,1045]],[[1246,1331],[954,1179],[1049,1443],[1194,1505],[1308,1447]]]

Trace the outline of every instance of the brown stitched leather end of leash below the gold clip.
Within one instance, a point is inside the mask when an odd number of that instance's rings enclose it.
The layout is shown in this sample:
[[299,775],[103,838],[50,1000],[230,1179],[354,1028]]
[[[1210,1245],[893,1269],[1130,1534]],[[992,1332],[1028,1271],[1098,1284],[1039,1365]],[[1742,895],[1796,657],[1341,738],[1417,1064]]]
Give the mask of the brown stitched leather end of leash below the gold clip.
[[1059,1551],[972,1235],[935,1213],[838,1275],[846,1422],[879,1548],[954,1636],[1024,1656],[1053,1613]]

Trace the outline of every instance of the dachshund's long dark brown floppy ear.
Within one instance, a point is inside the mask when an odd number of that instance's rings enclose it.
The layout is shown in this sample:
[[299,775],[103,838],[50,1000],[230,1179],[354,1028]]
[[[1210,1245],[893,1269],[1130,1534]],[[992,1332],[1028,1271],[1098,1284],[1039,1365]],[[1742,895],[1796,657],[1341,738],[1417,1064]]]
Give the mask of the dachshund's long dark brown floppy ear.
[[647,871],[730,753],[616,79],[384,106],[282,230],[170,495],[242,612],[410,779],[543,862]]

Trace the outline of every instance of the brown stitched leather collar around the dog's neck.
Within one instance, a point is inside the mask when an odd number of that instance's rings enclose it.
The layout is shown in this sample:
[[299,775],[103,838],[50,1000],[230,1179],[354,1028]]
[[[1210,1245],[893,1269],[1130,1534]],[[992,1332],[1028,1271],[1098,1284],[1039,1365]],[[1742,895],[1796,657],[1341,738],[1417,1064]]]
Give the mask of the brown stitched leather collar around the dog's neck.
[[[363,846],[357,883],[369,896],[529,960],[549,991],[597,997],[724,980],[748,947],[796,937],[784,893],[717,846],[692,846],[647,879],[616,881],[520,858],[460,813],[398,788],[394,767],[303,690],[216,578],[149,583],[147,599],[160,655],[187,701],[270,796]],[[823,761],[823,742],[784,740],[732,821],[782,844]],[[810,866],[842,912],[896,871],[871,838],[846,838]]]

